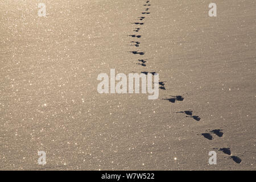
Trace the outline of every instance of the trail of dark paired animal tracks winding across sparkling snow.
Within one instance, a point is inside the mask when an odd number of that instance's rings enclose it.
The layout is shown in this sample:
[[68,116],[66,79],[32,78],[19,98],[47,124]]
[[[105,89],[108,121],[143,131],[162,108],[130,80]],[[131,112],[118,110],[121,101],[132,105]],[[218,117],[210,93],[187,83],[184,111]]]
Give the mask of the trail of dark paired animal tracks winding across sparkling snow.
[[[145,11],[141,13],[141,14],[143,14],[143,16],[138,17],[139,20],[144,20],[146,18],[146,15],[150,14],[150,12],[149,12],[149,10],[150,10],[149,6],[151,6],[150,1],[146,1],[146,3],[143,6],[146,6],[147,8],[144,9]],[[145,23],[144,22],[134,22],[132,24],[142,26]],[[141,27],[137,27],[133,31],[134,32],[139,32],[140,30],[141,30]],[[142,35],[134,35],[134,34],[128,35],[128,36],[130,36],[131,38],[135,38],[135,39],[139,39],[139,38],[142,37]],[[139,42],[137,40],[133,40],[133,41],[130,42],[130,46],[139,47],[139,44],[141,44],[141,42]],[[129,51],[129,52],[133,53],[134,55],[144,55],[145,54],[145,52],[140,52],[140,51]],[[142,67],[146,67],[146,63],[147,63],[146,60],[148,60],[148,59],[139,59],[137,64],[141,65]],[[141,73],[143,73],[145,75],[147,75],[148,73],[151,73],[152,75],[154,75],[156,72],[141,72]],[[165,85],[166,85],[166,81],[160,81],[159,82],[159,89],[166,90]],[[184,101],[184,97],[183,96],[170,96],[169,98],[162,98],[162,100],[169,101],[171,103],[175,103],[175,102]],[[201,120],[199,115],[193,115],[192,110],[177,111],[176,113],[184,114],[185,117],[191,118],[196,122],[199,122]],[[202,135],[204,138],[206,138],[208,140],[213,140],[215,136],[220,137],[220,138],[223,137],[224,133],[222,131],[223,131],[222,129],[214,129],[214,130],[209,130],[206,133],[202,133],[200,135]],[[234,162],[236,162],[238,164],[240,164],[242,162],[242,160],[238,156],[233,156],[232,155],[232,153],[230,151],[230,148],[213,148],[213,149],[223,152],[224,154],[228,155],[229,158],[233,159]]]

